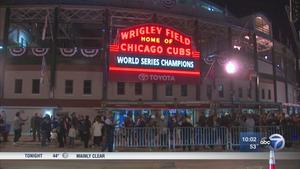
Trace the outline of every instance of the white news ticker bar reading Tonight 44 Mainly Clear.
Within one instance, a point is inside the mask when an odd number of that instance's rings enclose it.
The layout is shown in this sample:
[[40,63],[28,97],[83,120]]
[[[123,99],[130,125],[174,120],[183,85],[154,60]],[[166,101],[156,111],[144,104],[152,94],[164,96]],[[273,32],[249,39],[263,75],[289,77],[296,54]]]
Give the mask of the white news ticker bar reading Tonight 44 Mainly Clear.
[[[276,152],[300,160],[300,152]],[[268,160],[269,152],[0,152],[0,160]]]

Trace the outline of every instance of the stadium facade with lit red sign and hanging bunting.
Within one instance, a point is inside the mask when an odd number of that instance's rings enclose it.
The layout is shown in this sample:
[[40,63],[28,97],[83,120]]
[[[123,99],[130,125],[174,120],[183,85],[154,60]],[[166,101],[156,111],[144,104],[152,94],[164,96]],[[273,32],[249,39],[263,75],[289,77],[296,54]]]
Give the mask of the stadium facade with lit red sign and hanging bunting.
[[8,121],[17,111],[111,110],[120,123],[128,112],[300,112],[296,54],[261,13],[188,0],[0,3]]

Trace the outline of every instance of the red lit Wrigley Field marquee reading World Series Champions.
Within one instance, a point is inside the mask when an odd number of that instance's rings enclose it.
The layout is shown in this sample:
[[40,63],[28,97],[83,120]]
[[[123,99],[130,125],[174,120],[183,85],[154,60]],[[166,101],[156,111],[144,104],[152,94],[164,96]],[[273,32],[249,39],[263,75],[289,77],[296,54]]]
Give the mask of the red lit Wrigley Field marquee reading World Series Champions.
[[159,24],[136,25],[119,30],[110,45],[109,79],[198,83],[199,61],[190,36]]

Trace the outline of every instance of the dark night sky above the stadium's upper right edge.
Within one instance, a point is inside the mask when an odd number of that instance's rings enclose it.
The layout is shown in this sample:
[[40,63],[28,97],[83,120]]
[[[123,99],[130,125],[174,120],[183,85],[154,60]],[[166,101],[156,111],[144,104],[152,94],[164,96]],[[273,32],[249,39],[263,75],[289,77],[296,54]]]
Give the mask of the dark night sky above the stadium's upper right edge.
[[[279,30],[283,36],[291,38],[288,17],[285,11],[285,5],[289,0],[210,0],[221,7],[227,6],[228,10],[237,17],[251,15],[255,12],[261,12],[272,22],[273,35],[278,39]],[[300,20],[300,19],[299,19]],[[297,22],[297,29],[300,29],[300,22]]]

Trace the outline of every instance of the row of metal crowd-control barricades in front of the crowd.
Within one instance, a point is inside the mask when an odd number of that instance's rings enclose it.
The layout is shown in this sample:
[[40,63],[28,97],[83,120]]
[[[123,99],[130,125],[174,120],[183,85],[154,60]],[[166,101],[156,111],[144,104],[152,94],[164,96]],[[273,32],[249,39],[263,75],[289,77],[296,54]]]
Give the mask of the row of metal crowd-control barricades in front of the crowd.
[[188,127],[188,128],[117,128],[114,146],[118,148],[164,148],[176,151],[177,147],[222,146],[226,150],[238,150],[241,132],[257,132],[260,137],[278,133],[284,136],[286,145],[300,142],[300,127],[257,126],[242,127]]

